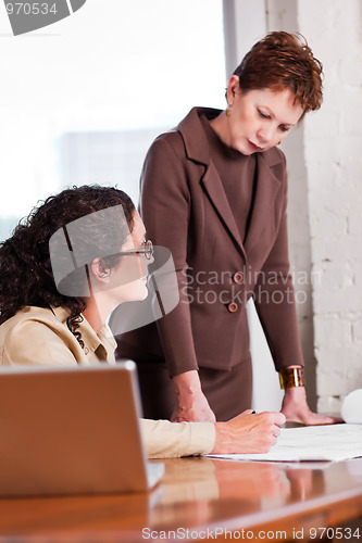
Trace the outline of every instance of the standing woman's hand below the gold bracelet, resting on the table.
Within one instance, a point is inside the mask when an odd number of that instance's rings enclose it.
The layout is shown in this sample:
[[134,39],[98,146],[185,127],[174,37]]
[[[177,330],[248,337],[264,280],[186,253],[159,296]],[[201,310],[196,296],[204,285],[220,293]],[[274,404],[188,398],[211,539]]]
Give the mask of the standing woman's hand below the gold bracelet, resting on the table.
[[282,413],[286,416],[287,420],[302,422],[308,426],[334,425],[344,421],[338,417],[328,417],[327,415],[313,413],[308,406],[304,387],[290,387],[285,390]]

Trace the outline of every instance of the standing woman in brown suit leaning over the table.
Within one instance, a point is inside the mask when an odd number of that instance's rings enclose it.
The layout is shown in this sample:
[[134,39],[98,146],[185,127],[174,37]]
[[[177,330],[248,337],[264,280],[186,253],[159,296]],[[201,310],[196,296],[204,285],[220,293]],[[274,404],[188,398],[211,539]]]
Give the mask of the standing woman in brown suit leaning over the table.
[[[208,84],[205,79],[205,84]],[[146,416],[226,420],[250,407],[247,301],[255,307],[289,420],[328,424],[307,404],[277,144],[322,103],[322,65],[302,37],[274,31],[235,70],[225,111],[195,108],[151,146],[141,215],[171,250],[178,306],[118,339],[137,361]],[[170,379],[171,378],[171,379]]]

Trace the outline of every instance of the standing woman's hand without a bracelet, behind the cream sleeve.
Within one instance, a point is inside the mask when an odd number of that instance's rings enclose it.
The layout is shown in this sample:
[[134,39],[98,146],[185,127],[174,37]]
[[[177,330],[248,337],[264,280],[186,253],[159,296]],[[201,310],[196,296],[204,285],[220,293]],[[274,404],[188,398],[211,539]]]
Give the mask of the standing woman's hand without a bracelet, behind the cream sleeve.
[[196,369],[173,377],[177,403],[172,422],[215,422],[216,418],[202,390]]

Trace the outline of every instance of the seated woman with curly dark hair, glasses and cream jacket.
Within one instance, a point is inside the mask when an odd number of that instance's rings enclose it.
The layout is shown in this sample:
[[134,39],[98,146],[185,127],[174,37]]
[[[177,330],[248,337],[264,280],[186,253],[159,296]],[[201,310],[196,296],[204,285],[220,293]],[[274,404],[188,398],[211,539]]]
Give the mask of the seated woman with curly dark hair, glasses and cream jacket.
[[[84,186],[50,197],[0,245],[0,364],[115,364],[107,318],[148,295],[153,248],[132,200]],[[227,422],[141,420],[150,457],[262,453],[279,413]]]

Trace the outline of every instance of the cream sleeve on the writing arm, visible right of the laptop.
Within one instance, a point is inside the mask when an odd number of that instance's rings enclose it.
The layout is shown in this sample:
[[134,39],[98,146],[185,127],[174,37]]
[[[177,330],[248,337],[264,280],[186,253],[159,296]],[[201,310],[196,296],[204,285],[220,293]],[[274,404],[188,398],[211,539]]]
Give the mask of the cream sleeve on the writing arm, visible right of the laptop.
[[170,422],[141,419],[141,432],[149,458],[209,454],[215,444],[213,422]]

